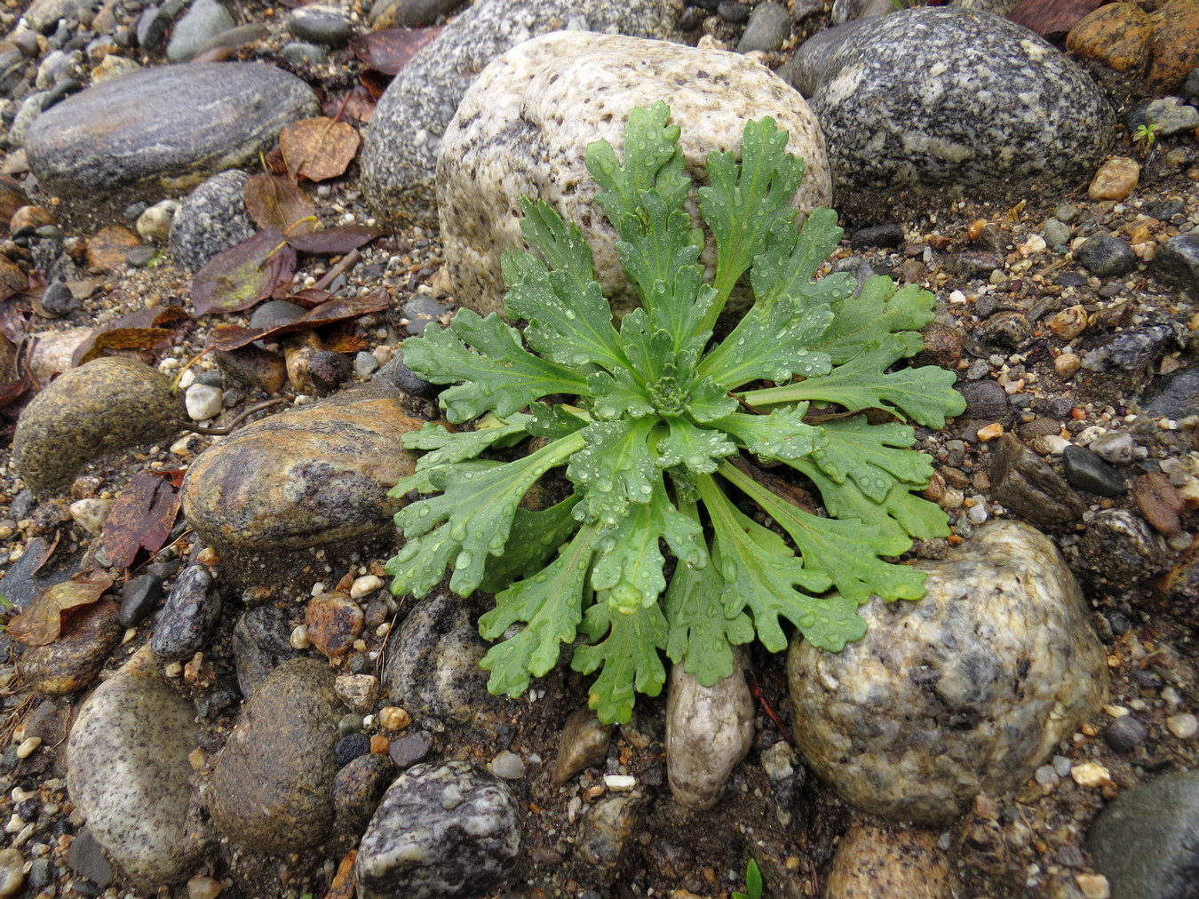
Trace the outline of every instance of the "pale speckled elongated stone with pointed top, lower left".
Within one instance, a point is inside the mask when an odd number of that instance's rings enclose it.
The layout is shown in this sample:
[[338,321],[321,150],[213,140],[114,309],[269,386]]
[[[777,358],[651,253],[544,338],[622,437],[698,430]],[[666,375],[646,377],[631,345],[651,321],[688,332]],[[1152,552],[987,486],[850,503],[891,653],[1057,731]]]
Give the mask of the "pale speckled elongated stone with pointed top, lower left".
[[188,814],[195,708],[141,648],[91,694],[71,728],[67,789],[97,841],[141,887],[193,873],[205,837]]

